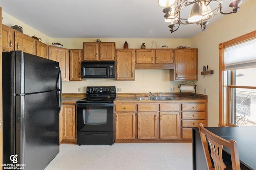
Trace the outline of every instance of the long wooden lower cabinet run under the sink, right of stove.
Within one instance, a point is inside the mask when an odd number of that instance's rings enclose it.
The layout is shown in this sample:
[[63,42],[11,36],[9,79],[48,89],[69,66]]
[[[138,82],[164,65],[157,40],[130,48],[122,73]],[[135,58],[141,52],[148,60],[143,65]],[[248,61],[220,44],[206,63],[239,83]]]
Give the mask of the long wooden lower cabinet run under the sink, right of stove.
[[[115,103],[115,140],[118,142],[129,142],[129,140],[178,142],[182,139],[189,141],[192,139],[190,131],[192,132],[193,126],[185,124],[190,120],[185,119],[185,112],[182,119],[181,108],[180,102]],[[190,112],[186,113],[190,114]],[[199,117],[203,116],[201,112],[198,114]],[[200,122],[206,125],[206,118]]]

